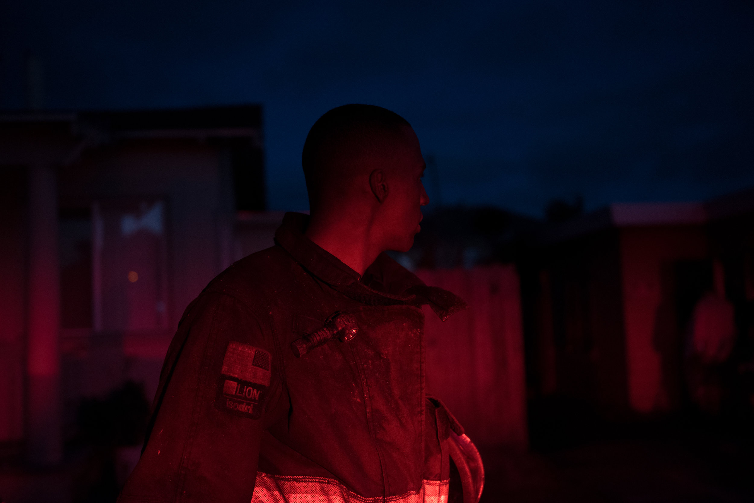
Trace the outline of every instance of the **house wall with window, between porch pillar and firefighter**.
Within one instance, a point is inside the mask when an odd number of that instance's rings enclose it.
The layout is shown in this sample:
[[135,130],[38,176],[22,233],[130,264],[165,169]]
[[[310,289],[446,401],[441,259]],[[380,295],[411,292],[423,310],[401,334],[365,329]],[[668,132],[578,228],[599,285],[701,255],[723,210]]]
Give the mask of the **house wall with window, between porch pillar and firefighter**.
[[[68,340],[70,403],[125,379],[143,383],[152,399],[183,310],[229,265],[230,169],[228,155],[213,143],[134,139],[85,151],[61,170],[62,204],[96,205],[93,233],[100,229],[102,241],[93,252],[99,266],[92,266],[101,269],[103,321],[90,340]],[[124,221],[133,229],[121,228]]]

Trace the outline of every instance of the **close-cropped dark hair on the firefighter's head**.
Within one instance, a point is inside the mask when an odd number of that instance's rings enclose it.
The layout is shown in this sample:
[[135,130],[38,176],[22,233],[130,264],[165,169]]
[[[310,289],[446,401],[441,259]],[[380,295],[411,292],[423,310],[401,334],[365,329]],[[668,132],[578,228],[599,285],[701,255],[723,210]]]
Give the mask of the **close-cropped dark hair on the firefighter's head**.
[[347,196],[351,184],[368,175],[375,163],[389,165],[410,128],[400,115],[375,105],[343,105],[320,117],[302,153],[311,211],[333,197]]

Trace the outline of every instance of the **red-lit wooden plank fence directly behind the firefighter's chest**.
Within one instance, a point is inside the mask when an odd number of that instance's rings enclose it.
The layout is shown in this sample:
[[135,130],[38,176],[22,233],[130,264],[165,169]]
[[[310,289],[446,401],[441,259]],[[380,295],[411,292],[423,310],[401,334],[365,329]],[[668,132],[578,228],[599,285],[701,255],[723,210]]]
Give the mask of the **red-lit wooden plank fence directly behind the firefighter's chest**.
[[427,389],[473,441],[525,449],[526,387],[519,280],[513,266],[420,270],[469,303],[448,321],[425,309]]

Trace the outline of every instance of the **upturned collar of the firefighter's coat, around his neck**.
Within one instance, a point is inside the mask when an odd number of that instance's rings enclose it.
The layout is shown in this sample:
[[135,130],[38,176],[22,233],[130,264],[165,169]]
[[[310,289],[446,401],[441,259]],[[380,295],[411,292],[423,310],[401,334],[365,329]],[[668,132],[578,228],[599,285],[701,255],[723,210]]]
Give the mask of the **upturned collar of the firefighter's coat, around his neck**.
[[275,242],[309,273],[346,297],[372,306],[428,304],[443,322],[467,307],[461,297],[425,285],[385,253],[380,254],[360,278],[359,273],[304,236],[308,223],[308,215],[286,213],[275,233]]

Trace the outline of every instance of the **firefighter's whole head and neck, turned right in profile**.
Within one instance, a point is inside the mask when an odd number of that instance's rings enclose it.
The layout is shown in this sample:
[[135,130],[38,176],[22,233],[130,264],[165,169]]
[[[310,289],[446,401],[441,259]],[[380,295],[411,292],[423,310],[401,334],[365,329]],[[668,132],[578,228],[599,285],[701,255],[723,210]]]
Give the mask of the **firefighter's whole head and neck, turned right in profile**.
[[421,230],[421,145],[406,119],[374,105],[328,111],[306,137],[305,236],[358,274],[385,250],[406,252]]

